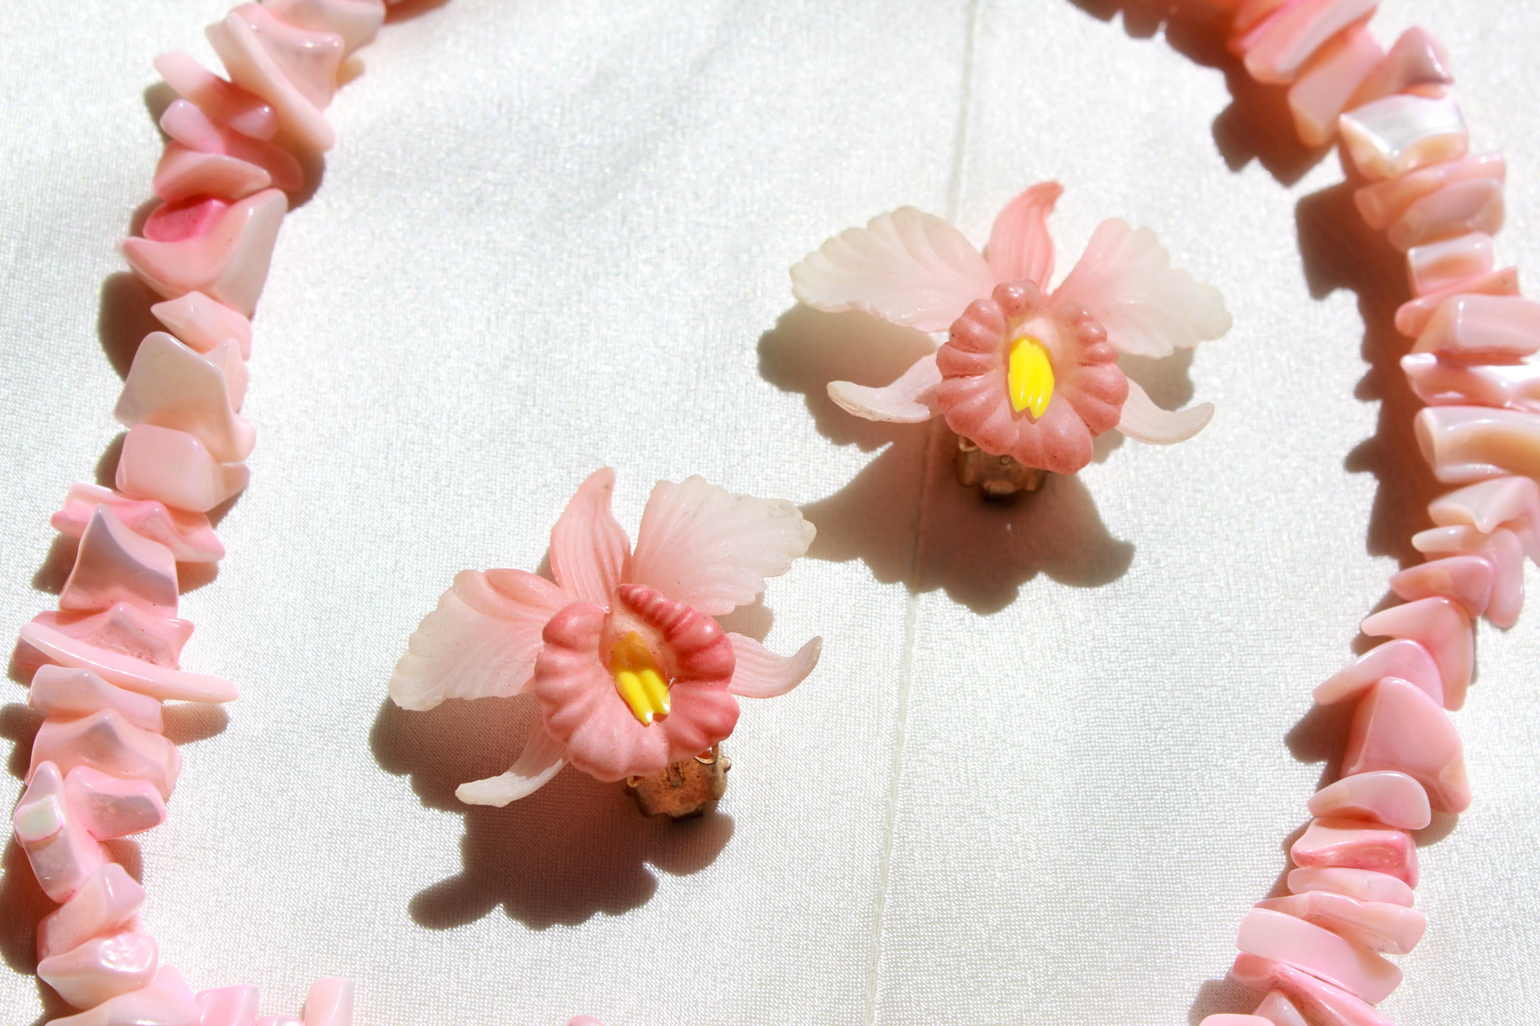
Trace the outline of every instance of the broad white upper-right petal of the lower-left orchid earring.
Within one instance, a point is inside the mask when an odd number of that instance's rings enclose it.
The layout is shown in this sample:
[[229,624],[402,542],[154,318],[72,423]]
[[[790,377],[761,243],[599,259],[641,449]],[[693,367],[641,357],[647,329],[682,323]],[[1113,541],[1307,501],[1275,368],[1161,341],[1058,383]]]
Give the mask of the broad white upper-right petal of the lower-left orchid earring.
[[627,580],[713,617],[745,606],[813,543],[813,525],[782,498],[733,495],[705,478],[658,481]]

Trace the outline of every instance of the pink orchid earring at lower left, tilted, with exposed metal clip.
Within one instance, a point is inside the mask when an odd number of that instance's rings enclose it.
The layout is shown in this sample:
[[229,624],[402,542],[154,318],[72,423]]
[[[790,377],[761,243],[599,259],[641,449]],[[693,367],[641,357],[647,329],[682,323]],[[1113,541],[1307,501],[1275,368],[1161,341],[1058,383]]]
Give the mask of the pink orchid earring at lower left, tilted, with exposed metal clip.
[[721,741],[738,698],[772,698],[818,665],[821,638],[781,657],[713,617],[748,605],[813,543],[788,501],[733,495],[690,477],[658,481],[636,551],[610,512],[614,471],[582,483],[551,529],[551,577],[460,571],[408,641],[390,697],[530,694],[539,720],[513,768],[460,784],[468,804],[533,794],[567,763],[627,781],[648,815],[722,797]]

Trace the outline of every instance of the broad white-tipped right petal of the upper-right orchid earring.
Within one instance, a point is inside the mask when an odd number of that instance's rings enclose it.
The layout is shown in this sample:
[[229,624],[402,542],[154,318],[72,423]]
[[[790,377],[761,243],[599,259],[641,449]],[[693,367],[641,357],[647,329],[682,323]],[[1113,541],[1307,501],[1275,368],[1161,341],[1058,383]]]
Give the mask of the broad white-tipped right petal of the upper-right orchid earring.
[[1113,346],[1141,357],[1166,357],[1230,329],[1218,289],[1173,269],[1155,232],[1115,217],[1096,228],[1052,303],[1080,303]]

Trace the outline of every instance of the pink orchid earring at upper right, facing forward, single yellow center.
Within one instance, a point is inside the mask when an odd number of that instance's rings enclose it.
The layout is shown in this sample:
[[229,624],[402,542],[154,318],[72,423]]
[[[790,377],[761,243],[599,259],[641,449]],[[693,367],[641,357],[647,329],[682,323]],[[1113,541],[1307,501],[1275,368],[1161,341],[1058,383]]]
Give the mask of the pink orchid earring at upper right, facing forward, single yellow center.
[[1221,337],[1230,315],[1218,289],[1173,269],[1150,229],[1112,218],[1050,291],[1047,215],[1063,191],[1046,182],[1012,200],[983,254],[939,217],[906,206],[792,268],[792,292],[815,309],[947,332],[892,385],[832,381],[829,395],[867,420],[939,414],[958,435],[958,480],[992,495],[1036,491],[1047,471],[1075,474],[1090,463],[1092,438],[1113,428],[1172,445],[1214,415],[1210,403],[1161,409],[1118,354],[1167,357]]

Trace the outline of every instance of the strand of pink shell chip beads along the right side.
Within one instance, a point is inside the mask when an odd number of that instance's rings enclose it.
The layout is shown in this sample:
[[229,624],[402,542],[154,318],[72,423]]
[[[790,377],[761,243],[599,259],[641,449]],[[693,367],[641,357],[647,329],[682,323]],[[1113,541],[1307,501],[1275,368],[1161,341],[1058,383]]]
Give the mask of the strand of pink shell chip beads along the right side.
[[1386,51],[1366,28],[1375,0],[1226,0],[1230,49],[1261,83],[1289,88],[1300,138],[1340,142],[1361,175],[1364,223],[1406,254],[1412,300],[1397,329],[1401,366],[1428,406],[1417,440],[1434,475],[1465,485],[1429,506],[1412,538],[1428,561],[1391,578],[1403,600],[1363,621],[1389,638],[1315,689],[1355,703],[1341,778],[1309,801],[1291,849],[1287,897],[1241,920],[1232,978],[1266,994],[1250,1015],[1204,1026],[1391,1026],[1374,1004],[1401,981],[1384,954],[1409,952],[1426,917],[1412,908],[1417,846],[1432,812],[1471,804],[1460,709],[1474,623],[1509,628],[1523,560],[1540,558],[1540,305],[1494,271],[1505,163],[1471,155],[1440,43],[1411,29]]

